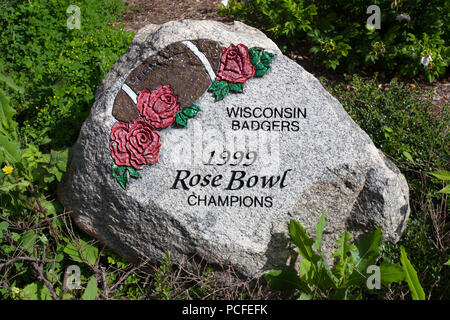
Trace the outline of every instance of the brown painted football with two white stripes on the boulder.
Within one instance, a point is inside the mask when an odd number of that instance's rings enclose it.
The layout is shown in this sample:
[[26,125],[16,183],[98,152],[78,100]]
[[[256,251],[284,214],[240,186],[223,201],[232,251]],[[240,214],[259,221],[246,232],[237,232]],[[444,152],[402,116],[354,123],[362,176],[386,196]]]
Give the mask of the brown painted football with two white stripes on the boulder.
[[170,85],[180,108],[192,105],[211,86],[220,67],[221,46],[212,40],[180,41],[148,57],[125,79],[114,101],[113,116],[124,122],[139,117],[139,92]]

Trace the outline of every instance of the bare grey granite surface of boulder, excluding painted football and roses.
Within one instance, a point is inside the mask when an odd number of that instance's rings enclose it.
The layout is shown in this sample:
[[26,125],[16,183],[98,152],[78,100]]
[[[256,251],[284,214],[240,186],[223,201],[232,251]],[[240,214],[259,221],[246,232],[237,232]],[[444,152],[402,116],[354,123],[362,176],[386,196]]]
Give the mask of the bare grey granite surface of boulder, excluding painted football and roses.
[[[174,42],[199,39],[224,47],[262,47],[275,54],[272,68],[263,78],[245,83],[243,93],[230,93],[222,101],[209,92],[201,95],[195,103],[202,112],[187,128],[160,131],[159,161],[141,170],[141,178],[131,180],[127,190],[121,189],[111,177],[109,149],[117,121],[112,115],[116,95],[145,59]],[[263,127],[273,129],[280,120],[273,115],[230,117],[230,109],[239,107],[260,108],[266,115],[268,109],[300,112],[286,116],[289,125],[275,128],[283,131],[234,131],[233,126],[245,121],[267,121]],[[241,154],[235,152],[242,151],[244,161],[218,165],[220,155],[227,156],[224,150],[236,162]],[[212,151],[218,158],[211,160]],[[245,165],[255,154],[256,161]],[[188,171],[189,178],[222,175],[222,184],[184,188],[176,183],[177,176]],[[239,187],[237,179],[230,185],[233,172],[235,178],[245,173],[242,181],[248,185],[226,190]],[[263,177],[270,176],[273,181],[278,177],[278,184],[262,187]],[[239,22],[185,20],[141,29],[97,90],[58,194],[83,230],[132,261],[146,257],[156,263],[171,250],[174,260],[196,255],[231,265],[247,277],[288,262],[289,219],[300,221],[314,236],[326,211],[323,246],[329,254],[346,229],[359,236],[382,226],[384,240],[398,241],[409,216],[409,190],[400,171],[317,79],[283,56],[262,32]]]

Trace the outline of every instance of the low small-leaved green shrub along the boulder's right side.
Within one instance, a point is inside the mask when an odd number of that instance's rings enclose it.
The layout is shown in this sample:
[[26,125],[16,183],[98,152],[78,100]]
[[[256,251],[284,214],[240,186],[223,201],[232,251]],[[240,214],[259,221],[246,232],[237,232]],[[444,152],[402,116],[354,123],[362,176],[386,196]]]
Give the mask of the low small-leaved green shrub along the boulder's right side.
[[[424,97],[422,90],[395,79],[383,88],[376,79],[354,76],[349,85],[330,90],[406,176],[411,217],[400,244],[408,251],[425,291],[432,298],[448,298],[450,272],[443,267],[450,248],[448,196],[441,192],[446,182],[430,173],[448,171],[448,104],[433,116],[431,92]],[[387,246],[391,259],[398,259],[398,252],[398,245]]]

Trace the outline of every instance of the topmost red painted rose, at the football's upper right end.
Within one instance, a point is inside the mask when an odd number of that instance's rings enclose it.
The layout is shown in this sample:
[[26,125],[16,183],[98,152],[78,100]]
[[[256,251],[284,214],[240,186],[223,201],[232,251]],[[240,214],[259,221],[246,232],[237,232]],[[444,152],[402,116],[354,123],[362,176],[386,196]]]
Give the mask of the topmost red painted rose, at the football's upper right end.
[[222,48],[220,70],[217,81],[244,83],[255,75],[255,67],[250,62],[248,48],[243,44]]

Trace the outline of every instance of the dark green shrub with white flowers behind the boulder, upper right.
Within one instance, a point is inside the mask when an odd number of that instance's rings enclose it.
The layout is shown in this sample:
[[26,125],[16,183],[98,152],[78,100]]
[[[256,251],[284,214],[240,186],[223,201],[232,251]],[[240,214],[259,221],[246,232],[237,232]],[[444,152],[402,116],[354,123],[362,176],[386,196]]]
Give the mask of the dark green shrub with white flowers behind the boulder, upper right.
[[[340,70],[377,68],[429,82],[450,59],[450,3],[445,0],[233,0],[221,13],[254,24],[291,47],[307,40],[325,66]],[[381,29],[366,26],[370,5],[381,9]],[[399,21],[407,14],[409,21]],[[422,57],[431,57],[424,66]]]

